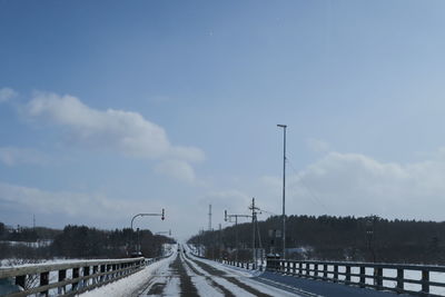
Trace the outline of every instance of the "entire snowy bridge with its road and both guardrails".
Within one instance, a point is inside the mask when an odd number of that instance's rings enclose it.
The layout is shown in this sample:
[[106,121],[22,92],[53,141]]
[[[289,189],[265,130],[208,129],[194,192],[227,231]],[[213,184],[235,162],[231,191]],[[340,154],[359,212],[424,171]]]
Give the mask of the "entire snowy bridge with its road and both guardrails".
[[[268,259],[209,260],[188,246],[154,259],[69,261],[0,269],[1,296],[445,296],[445,267]],[[33,279],[33,285],[29,280]],[[110,290],[105,288],[112,287]],[[0,285],[1,288],[1,285]],[[115,295],[110,295],[113,291]],[[1,294],[1,293],[0,293]]]

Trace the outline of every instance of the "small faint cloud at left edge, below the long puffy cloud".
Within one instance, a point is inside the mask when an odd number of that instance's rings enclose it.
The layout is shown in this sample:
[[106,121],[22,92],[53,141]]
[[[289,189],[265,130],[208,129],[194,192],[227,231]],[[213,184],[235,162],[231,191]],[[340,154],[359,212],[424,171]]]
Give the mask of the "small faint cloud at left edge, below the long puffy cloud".
[[0,147],[0,162],[7,166],[19,164],[42,165],[48,162],[48,157],[33,149]]

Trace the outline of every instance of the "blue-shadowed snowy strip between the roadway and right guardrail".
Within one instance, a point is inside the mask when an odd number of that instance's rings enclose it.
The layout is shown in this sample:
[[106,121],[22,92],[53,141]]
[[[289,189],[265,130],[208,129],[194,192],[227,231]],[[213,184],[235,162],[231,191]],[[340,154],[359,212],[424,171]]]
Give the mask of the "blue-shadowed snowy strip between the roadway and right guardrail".
[[259,281],[275,281],[289,287],[298,288],[308,293],[306,296],[324,296],[324,297],[347,297],[347,296],[365,296],[365,297],[395,297],[409,296],[406,294],[395,294],[390,291],[378,291],[368,288],[358,288],[335,284],[329,281],[320,281],[307,278],[298,278],[276,273],[266,271],[257,277]]

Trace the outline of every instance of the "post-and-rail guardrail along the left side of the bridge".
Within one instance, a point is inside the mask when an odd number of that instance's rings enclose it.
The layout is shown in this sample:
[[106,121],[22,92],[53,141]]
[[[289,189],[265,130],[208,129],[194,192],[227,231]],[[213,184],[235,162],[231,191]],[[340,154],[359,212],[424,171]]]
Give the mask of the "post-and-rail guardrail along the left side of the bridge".
[[0,280],[12,278],[23,289],[8,297],[73,296],[135,274],[149,263],[145,258],[127,258],[0,268]]

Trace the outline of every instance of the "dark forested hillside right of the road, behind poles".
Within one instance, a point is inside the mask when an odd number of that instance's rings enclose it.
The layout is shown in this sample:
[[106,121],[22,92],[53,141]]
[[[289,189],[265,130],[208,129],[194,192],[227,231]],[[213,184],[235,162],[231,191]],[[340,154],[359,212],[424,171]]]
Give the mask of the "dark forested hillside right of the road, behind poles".
[[[258,221],[266,253],[281,253],[281,238],[276,237],[281,224],[279,216]],[[251,257],[251,222],[237,229],[238,257],[247,260]],[[445,264],[445,222],[289,216],[286,229],[287,254],[294,259]],[[206,247],[207,257],[234,258],[235,226],[201,232],[189,242]]]

